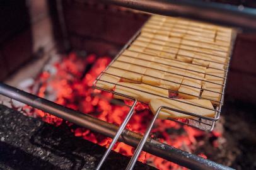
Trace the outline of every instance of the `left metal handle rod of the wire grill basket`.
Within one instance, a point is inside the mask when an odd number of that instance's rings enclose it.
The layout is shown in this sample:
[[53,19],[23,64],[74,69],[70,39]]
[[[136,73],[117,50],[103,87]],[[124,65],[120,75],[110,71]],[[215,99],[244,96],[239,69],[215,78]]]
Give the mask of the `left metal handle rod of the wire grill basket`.
[[126,127],[127,123],[129,122],[131,116],[134,113],[134,107],[135,107],[136,103],[137,103],[137,99],[134,100],[134,103],[131,106],[131,110],[129,111],[129,113],[125,117],[124,122],[122,123],[122,125],[120,125],[119,130],[115,134],[115,137],[113,137],[113,140],[112,140],[111,144],[109,145],[108,149],[106,150],[105,154],[103,155],[102,159],[100,160],[100,163],[96,167],[96,170],[99,170],[100,167],[102,167],[102,164],[105,162],[105,160],[107,159],[108,155],[110,154],[110,151],[112,150],[113,145],[115,145],[115,143],[119,139],[120,135],[124,131],[124,128]]

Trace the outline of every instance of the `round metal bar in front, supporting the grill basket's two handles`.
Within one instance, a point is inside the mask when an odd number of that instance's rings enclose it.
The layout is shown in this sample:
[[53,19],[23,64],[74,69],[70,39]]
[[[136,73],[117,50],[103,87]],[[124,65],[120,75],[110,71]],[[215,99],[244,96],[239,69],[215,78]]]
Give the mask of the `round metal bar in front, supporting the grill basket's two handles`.
[[[1,82],[0,94],[25,103],[26,105],[33,106],[34,108],[45,111],[59,118],[63,118],[64,120],[75,123],[81,127],[89,128],[94,132],[102,133],[107,137],[114,137],[119,128],[111,123],[98,120],[90,115],[85,115],[69,108],[65,108],[57,103],[44,98],[39,98],[38,96],[26,93],[25,91],[21,91],[20,89],[13,88]],[[122,132],[122,135],[120,135],[119,141],[131,145],[132,147],[136,147],[141,139],[142,136],[138,133],[125,129],[124,132]],[[175,147],[163,144],[150,138],[147,140],[143,150],[149,154],[162,157],[167,161],[172,161],[189,169],[231,169],[230,167],[226,167],[202,157],[195,156],[194,154],[176,149]]]

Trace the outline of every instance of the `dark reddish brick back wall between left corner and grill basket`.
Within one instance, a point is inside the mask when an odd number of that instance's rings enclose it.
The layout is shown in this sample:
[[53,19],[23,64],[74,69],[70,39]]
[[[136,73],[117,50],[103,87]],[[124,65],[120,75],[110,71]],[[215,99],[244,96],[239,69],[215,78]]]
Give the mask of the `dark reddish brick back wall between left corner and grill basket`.
[[93,1],[64,1],[64,16],[71,47],[105,55],[120,50],[148,19],[117,6]]

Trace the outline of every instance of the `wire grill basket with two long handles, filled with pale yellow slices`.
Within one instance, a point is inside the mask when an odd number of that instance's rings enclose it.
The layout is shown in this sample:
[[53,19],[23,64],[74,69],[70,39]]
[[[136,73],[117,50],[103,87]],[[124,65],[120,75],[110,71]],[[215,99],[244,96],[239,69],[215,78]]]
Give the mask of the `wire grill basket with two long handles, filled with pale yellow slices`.
[[[134,101],[98,169],[131,118],[137,101],[150,105],[149,100],[158,98],[163,104],[153,111],[151,125],[127,169],[134,166],[156,118],[212,130],[223,105],[235,35],[231,28],[152,16],[94,82],[95,88],[113,93],[115,98]],[[212,107],[190,99],[211,101]],[[170,106],[169,101],[180,107]],[[214,114],[197,113],[200,110]],[[163,116],[165,113],[179,116]]]

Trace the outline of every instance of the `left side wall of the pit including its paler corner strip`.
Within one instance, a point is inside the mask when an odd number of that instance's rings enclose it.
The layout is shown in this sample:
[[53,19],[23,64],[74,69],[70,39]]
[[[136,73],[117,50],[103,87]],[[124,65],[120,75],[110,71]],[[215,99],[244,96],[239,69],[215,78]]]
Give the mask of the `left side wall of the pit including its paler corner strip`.
[[3,81],[37,56],[34,54],[38,50],[50,49],[47,0],[0,1],[0,23],[0,81]]

